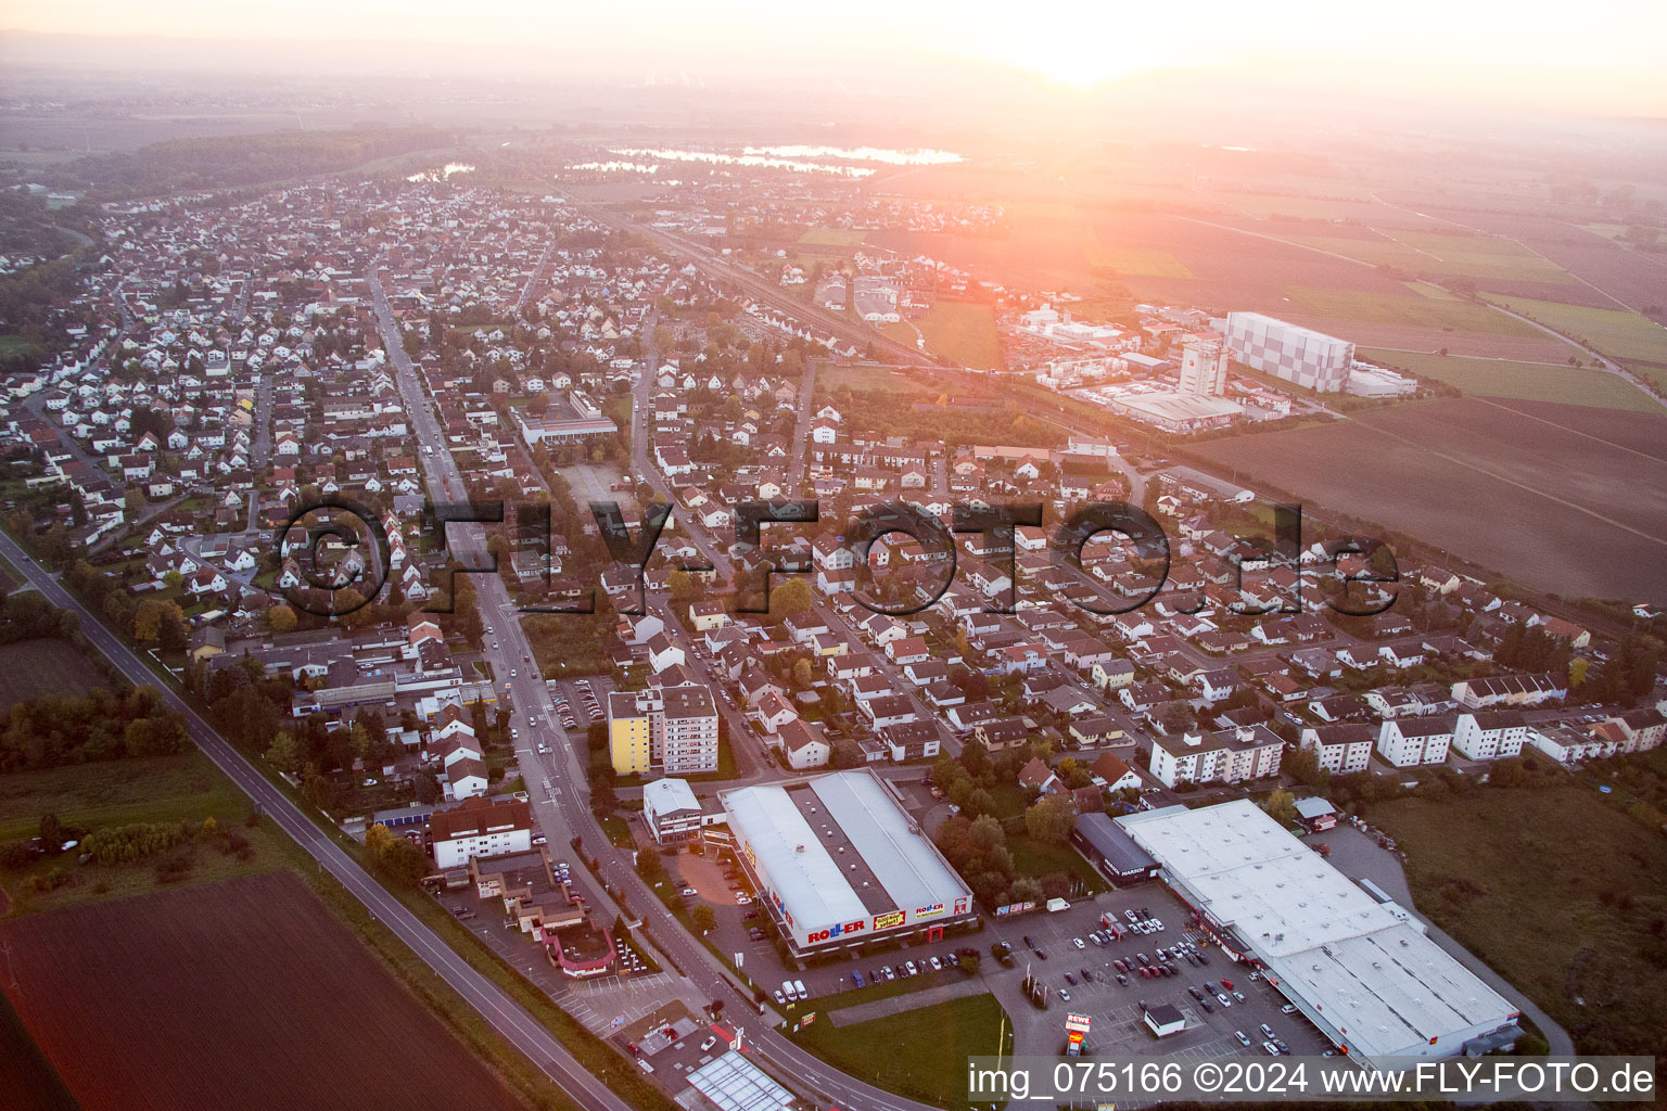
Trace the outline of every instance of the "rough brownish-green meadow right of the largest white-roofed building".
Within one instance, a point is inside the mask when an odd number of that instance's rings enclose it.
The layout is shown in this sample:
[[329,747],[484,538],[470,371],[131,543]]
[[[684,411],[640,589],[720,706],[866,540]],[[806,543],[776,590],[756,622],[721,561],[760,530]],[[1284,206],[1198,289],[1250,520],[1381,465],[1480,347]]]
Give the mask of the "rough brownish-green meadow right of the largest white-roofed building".
[[1580,1053],[1667,1051],[1667,839],[1590,786],[1375,806],[1419,909]]

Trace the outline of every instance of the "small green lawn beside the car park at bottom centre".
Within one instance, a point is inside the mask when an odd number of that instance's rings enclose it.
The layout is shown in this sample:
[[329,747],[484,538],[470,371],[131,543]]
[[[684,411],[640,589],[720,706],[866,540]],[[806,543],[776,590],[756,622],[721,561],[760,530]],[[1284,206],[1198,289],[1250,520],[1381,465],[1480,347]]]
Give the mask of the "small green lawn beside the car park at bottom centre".
[[[967,1058],[997,1051],[1004,1019],[995,996],[982,994],[854,1026],[835,1026],[818,1014],[792,1038],[862,1081],[922,1103],[959,1106],[967,1091]],[[1012,1026],[1005,1041],[1012,1046]]]

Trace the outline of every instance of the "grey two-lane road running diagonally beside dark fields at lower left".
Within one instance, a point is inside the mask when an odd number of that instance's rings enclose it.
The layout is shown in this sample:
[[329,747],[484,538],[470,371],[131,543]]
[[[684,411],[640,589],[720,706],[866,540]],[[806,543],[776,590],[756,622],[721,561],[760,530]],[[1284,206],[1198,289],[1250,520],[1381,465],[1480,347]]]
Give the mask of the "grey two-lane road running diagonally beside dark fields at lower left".
[[157,686],[163,701],[185,718],[185,728],[192,741],[220,768],[250,800],[300,844],[318,866],[335,876],[348,893],[365,904],[372,918],[382,921],[393,934],[403,941],[428,968],[433,969],[468,1006],[475,1008],[487,1023],[497,1029],[505,1041],[527,1054],[527,1058],[543,1071],[573,1103],[585,1111],[628,1111],[630,1104],[615,1096],[608,1088],[592,1076],[545,1026],[515,1003],[502,988],[470,968],[452,946],[442,941],[420,918],[403,903],[377,883],[357,859],[347,854],[335,839],[308,818],[300,806],[273,786],[240,751],[220,736],[203,718],[185,703],[172,688],[162,686],[157,676],[138,656],[128,650],[115,635],[103,626],[70,591],[37,565],[10,538],[0,535],[0,553],[17,566],[32,586],[35,586],[55,606],[75,613],[82,621],[82,633],[102,651],[110,663],[122,671],[130,683]]

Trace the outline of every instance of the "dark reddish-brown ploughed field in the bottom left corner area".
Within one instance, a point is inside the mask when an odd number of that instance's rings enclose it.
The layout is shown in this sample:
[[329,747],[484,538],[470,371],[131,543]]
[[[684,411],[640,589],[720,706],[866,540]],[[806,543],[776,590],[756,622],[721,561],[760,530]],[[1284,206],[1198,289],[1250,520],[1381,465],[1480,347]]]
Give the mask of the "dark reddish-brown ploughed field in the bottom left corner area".
[[290,871],[0,939],[5,991],[83,1111],[523,1106]]

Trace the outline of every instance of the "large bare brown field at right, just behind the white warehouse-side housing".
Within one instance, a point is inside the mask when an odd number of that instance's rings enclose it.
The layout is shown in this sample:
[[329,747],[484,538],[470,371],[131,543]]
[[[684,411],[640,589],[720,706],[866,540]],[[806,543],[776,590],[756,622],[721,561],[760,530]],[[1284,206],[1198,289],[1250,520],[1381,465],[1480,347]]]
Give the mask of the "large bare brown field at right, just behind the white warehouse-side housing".
[[[1317,510],[1414,536],[1570,598],[1667,601],[1667,418],[1457,398],[1202,443]],[[1650,440],[1654,436],[1654,441]],[[1654,446],[1652,446],[1654,443]]]

